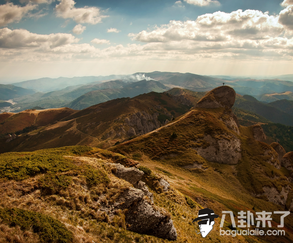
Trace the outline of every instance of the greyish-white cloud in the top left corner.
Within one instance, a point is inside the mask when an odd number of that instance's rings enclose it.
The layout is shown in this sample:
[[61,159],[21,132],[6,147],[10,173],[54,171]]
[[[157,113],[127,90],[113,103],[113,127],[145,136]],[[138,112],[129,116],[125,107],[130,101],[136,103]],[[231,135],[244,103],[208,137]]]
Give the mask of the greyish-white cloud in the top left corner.
[[24,7],[7,3],[0,5],[0,26],[5,26],[13,22],[19,22],[30,11],[38,8],[37,5],[28,4]]

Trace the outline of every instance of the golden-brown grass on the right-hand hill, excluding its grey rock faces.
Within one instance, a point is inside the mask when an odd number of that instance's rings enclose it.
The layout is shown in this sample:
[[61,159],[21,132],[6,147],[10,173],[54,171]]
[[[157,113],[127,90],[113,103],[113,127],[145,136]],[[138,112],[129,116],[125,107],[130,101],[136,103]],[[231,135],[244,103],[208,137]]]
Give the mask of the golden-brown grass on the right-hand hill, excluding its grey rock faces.
[[[271,211],[277,208],[279,210],[280,206],[268,202],[264,196],[261,196],[262,187],[273,186],[280,190],[282,186],[289,184],[286,179],[288,172],[284,168],[278,170],[265,162],[267,156],[263,153],[263,148],[267,145],[252,139],[249,127],[241,127],[241,135],[234,133],[242,142],[242,158],[236,166],[208,162],[191,149],[195,146],[193,141],[203,134],[217,136],[221,132],[228,132],[219,121],[222,113],[221,109],[211,109],[210,112],[195,109],[181,119],[158,129],[158,132],[142,135],[116,145],[110,150],[127,156],[139,151],[144,158],[141,162],[143,165],[157,171],[167,171],[168,173],[165,174],[170,177],[175,188],[189,195],[196,202],[213,208],[216,213],[222,210],[232,210],[235,214],[240,210]],[[173,132],[178,135],[175,139],[171,137]],[[193,163],[202,167],[194,169],[182,167]],[[289,204],[290,201],[287,203]],[[288,232],[292,232],[293,225],[289,219],[287,223]],[[292,237],[291,234],[289,235]],[[267,242],[291,241],[277,237],[266,240]]]

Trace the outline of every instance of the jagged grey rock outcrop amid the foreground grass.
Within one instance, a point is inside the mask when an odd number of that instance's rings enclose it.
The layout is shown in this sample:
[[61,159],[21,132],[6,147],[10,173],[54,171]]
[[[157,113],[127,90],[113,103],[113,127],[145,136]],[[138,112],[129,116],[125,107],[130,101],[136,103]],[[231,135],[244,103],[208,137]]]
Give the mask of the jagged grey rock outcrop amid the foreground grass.
[[[127,209],[125,222],[128,230],[176,240],[177,232],[170,214],[163,208],[153,206],[153,193],[140,180],[144,173],[134,167],[125,168],[121,164],[107,163],[107,165],[115,168],[112,169],[115,176],[130,182],[135,188],[130,187],[124,191],[115,200],[114,205],[105,206],[103,210],[108,214],[113,214],[116,209]],[[160,184],[161,181],[164,190],[165,188],[168,190],[170,186],[168,181],[161,179]],[[148,200],[148,197],[151,201]]]

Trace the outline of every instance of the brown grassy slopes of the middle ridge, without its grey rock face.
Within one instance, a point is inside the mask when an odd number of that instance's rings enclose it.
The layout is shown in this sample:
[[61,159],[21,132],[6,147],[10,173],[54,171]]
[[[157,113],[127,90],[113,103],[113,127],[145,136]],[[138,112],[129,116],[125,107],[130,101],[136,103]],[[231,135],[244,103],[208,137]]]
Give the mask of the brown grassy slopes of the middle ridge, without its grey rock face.
[[[159,109],[159,106],[161,106],[161,109]],[[26,133],[9,143],[5,142],[7,139],[0,138],[0,144],[2,145],[0,147],[0,152],[32,151],[42,148],[53,148],[77,144],[98,146],[101,142],[101,145],[103,145],[108,141],[110,142],[110,145],[113,145],[117,141],[127,139],[128,136],[121,134],[121,137],[114,139],[113,137],[106,138],[105,135],[111,130],[117,132],[120,125],[124,126],[124,129],[127,131],[129,126],[124,124],[124,119],[137,113],[138,111],[145,111],[150,114],[158,112],[159,120],[161,117],[163,120],[171,120],[172,117],[165,115],[165,113],[170,113],[173,116],[178,117],[186,113],[189,109],[190,107],[178,104],[178,102],[166,93],[159,94],[151,92],[149,94],[139,95],[131,99],[122,98],[111,100],[78,111],[72,115],[68,114],[58,123],[54,122],[59,119],[49,117],[45,120],[48,122],[47,124],[41,124],[43,126],[42,128],[35,127],[34,130],[30,130],[29,133],[26,131]],[[40,114],[43,114],[42,112],[45,111],[41,111]],[[7,132],[8,125],[10,125],[14,128],[10,129],[10,131],[18,131],[17,129],[21,130],[33,124],[35,119],[34,114],[18,114],[27,115],[27,119],[19,119],[18,123],[15,122],[16,124],[14,124],[14,122],[11,122],[13,121],[13,117],[10,117],[8,120],[10,119],[11,121],[0,125],[0,128],[2,126],[3,129],[5,128],[4,132]],[[2,117],[1,115],[0,119]],[[3,115],[8,117],[9,114],[4,113]],[[51,120],[52,122],[50,122]],[[48,125],[49,122],[51,125]]]

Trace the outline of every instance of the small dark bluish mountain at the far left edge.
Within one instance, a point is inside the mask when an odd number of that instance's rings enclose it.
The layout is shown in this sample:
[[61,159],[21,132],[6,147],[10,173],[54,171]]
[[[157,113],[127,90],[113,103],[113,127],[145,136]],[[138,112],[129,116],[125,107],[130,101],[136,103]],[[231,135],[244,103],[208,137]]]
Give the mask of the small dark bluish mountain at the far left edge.
[[30,95],[36,93],[30,89],[24,89],[14,86],[12,84],[0,84],[0,97],[2,100],[11,100],[24,95]]

